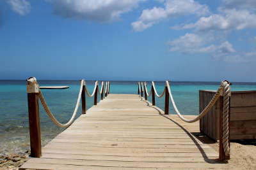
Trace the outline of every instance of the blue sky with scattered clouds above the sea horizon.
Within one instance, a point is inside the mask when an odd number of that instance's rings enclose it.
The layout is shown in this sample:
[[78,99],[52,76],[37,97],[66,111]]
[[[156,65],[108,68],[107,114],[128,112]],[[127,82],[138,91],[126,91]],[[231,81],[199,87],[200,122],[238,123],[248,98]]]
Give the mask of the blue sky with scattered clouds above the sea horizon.
[[256,81],[255,0],[1,0],[0,79]]

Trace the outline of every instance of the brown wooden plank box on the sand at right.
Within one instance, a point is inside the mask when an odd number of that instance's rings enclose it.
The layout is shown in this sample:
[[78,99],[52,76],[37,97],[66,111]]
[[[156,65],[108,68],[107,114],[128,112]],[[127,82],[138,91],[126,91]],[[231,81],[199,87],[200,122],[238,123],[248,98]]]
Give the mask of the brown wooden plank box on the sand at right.
[[[200,90],[200,111],[212,99],[216,91]],[[219,139],[220,99],[212,110],[200,120],[200,132],[214,140]],[[230,97],[230,139],[255,139],[256,136],[256,91],[236,91]]]

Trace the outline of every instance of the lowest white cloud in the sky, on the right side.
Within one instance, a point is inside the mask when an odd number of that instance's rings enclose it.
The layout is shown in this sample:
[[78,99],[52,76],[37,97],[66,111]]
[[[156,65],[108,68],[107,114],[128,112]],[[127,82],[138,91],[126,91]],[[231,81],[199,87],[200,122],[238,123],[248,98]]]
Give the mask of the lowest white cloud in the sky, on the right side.
[[228,41],[223,41],[220,45],[209,45],[215,40],[212,34],[187,33],[170,41],[168,45],[170,45],[170,51],[173,52],[206,53],[212,55],[215,59],[220,59],[236,52]]

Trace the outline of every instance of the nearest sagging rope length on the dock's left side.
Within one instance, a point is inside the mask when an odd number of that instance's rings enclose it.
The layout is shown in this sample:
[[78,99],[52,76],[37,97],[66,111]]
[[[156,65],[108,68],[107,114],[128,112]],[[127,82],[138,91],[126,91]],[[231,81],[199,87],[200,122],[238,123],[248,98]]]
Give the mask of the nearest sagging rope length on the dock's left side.
[[79,104],[80,104],[80,101],[81,101],[81,94],[82,94],[82,91],[83,91],[83,85],[84,85],[84,80],[81,80],[81,87],[80,87],[79,94],[78,94],[78,97],[77,97],[76,108],[75,108],[75,110],[73,112],[72,117],[70,118],[70,120],[68,120],[68,122],[66,124],[61,124],[54,117],[54,115],[52,115],[51,110],[49,109],[49,107],[47,106],[47,103],[45,102],[45,99],[44,99],[44,96],[43,96],[41,90],[39,90],[39,99],[40,99],[40,101],[42,103],[42,106],[44,107],[45,112],[51,118],[51,120],[52,120],[52,122],[54,122],[54,124],[58,125],[59,127],[68,127],[69,125],[72,124],[72,122],[74,122],[74,119],[76,117],[77,110],[79,108]]

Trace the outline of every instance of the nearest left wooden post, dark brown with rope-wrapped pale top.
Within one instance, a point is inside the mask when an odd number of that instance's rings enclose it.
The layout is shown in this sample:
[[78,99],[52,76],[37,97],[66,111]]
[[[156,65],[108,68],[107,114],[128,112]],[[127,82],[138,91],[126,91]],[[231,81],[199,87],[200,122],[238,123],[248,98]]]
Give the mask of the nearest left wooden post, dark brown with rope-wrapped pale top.
[[27,90],[31,157],[40,158],[42,156],[42,146],[38,104],[39,86],[36,78],[27,80]]

